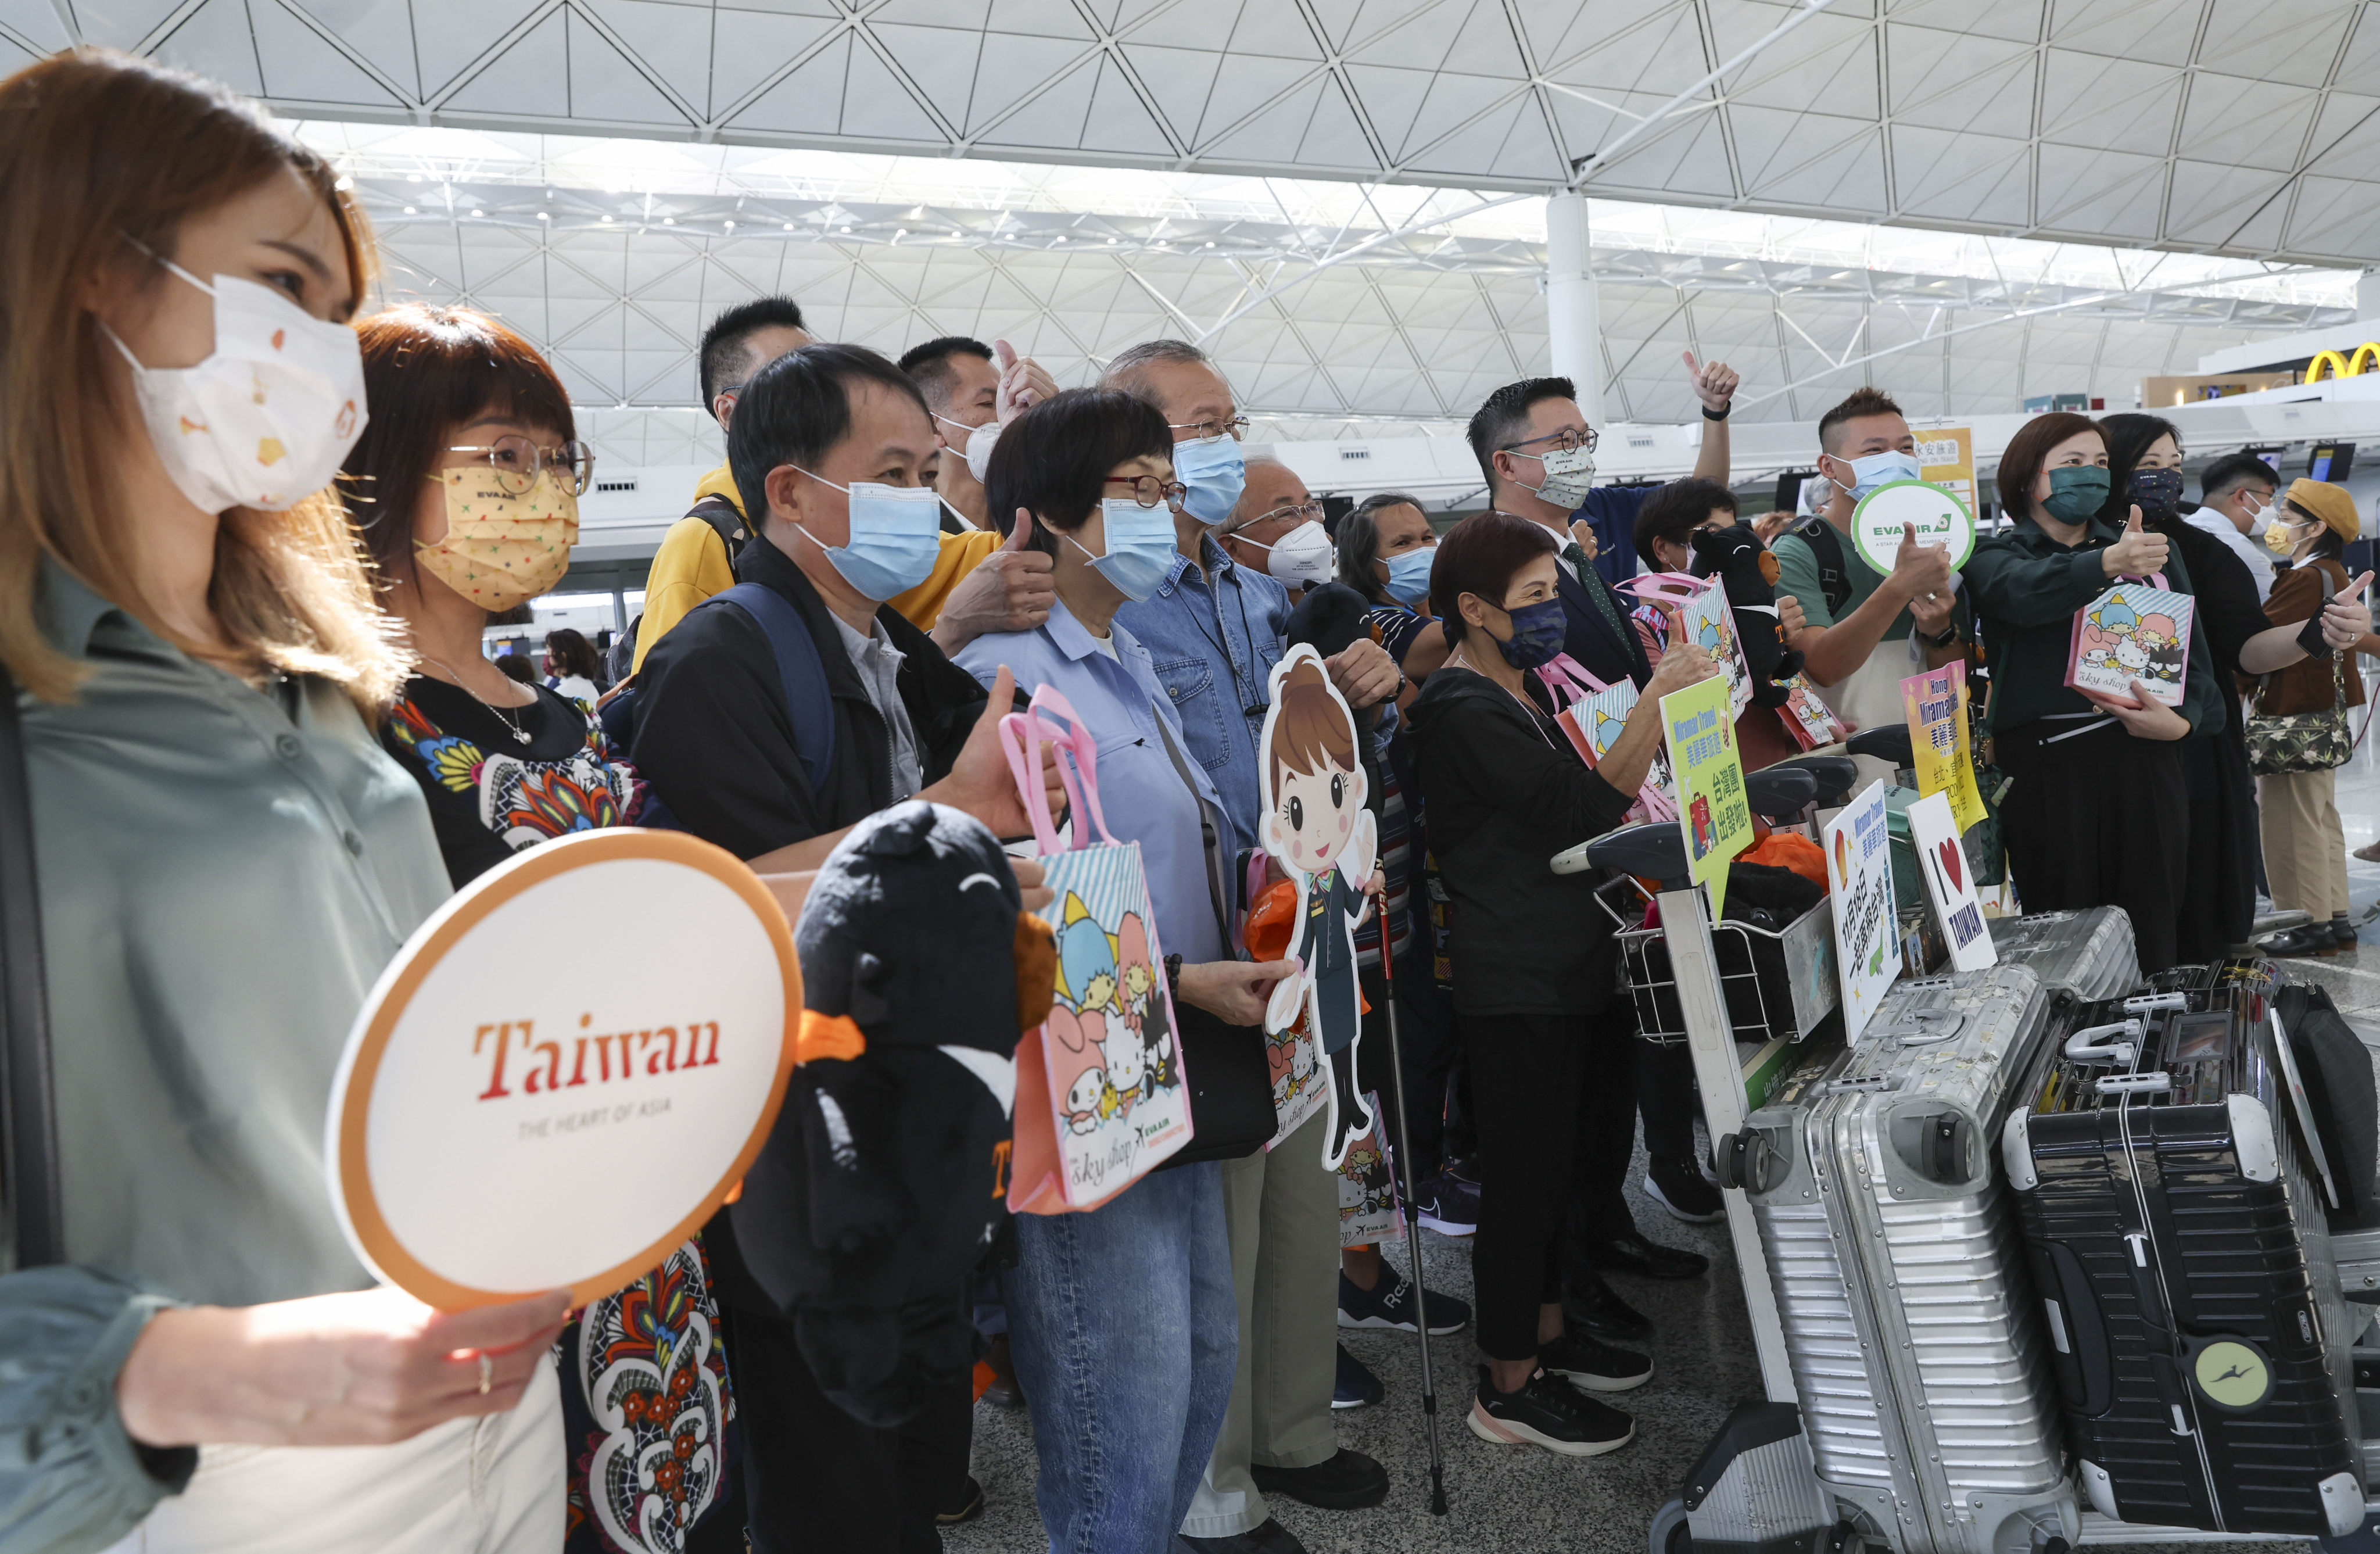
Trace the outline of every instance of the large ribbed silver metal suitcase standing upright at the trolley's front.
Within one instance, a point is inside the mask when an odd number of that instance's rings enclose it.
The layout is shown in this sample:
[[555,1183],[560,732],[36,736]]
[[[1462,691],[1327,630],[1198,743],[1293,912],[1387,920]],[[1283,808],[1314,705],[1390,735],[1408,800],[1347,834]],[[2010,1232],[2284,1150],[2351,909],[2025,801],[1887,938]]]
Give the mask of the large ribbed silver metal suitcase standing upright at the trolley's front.
[[1897,1554],[2080,1533],[1997,1140],[2066,1000],[2025,966],[1894,988],[1721,1142],[1752,1202],[1818,1480]]

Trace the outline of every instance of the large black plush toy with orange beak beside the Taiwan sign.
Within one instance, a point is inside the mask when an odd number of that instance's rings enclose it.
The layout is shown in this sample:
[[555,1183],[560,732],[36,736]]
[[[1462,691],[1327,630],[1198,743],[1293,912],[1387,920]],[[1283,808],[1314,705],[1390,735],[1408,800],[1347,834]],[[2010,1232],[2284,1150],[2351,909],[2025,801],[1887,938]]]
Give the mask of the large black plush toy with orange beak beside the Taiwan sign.
[[835,845],[795,926],[797,1069],[728,1214],[819,1390],[869,1425],[976,1361],[962,1280],[1004,1211],[1016,1038],[1057,966],[1019,902],[983,823],[912,800]]

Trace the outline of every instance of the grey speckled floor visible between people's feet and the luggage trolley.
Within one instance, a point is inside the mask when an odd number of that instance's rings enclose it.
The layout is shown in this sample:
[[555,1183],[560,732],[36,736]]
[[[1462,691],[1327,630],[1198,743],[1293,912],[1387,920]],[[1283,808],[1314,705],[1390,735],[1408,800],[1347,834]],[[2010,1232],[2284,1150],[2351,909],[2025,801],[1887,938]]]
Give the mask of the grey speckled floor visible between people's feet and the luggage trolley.
[[[2366,745],[2340,771],[2340,816],[2347,845],[2380,840],[2380,750]],[[2380,864],[2349,861],[2354,911],[2380,900]],[[2380,1045],[2380,921],[2363,930],[2363,947],[2328,959],[2292,961],[2294,973],[2330,988],[2340,1009]],[[1642,1159],[1640,1159],[1642,1168]],[[1421,1428],[1421,1371],[1414,1340],[1352,1333],[1347,1347],[1388,1383],[1388,1402],[1338,1416],[1340,1445],[1378,1456],[1390,1473],[1388,1504],[1371,1511],[1311,1511],[1273,1502],[1273,1511],[1311,1554],[1635,1554],[1661,1502],[1678,1495],[1685,1471],[1728,1409],[1759,1395],[1759,1366],[1735,1254],[1723,1226],[1683,1226],[1630,1183],[1637,1223],[1680,1247],[1711,1257],[1711,1273],[1678,1285],[1614,1280],[1630,1304],[1656,1321],[1654,1380],[1611,1399],[1637,1421],[1637,1440],[1611,1456],[1561,1459],[1535,1449],[1490,1447],[1471,1435],[1464,1414],[1473,1392],[1468,1335],[1442,1340],[1438,1356],[1440,1428],[1447,1449],[1447,1516],[1428,1514],[1428,1456]],[[1466,1242],[1423,1233],[1433,1290],[1468,1299]],[[1033,1437],[1023,1414],[976,1409],[976,1478],[988,1509],[983,1521],[945,1537],[950,1554],[1026,1554],[1047,1549],[1033,1511]],[[2240,1544],[2194,1544],[2192,1554]],[[2301,1554],[2304,1544],[2263,1544],[2266,1554]]]

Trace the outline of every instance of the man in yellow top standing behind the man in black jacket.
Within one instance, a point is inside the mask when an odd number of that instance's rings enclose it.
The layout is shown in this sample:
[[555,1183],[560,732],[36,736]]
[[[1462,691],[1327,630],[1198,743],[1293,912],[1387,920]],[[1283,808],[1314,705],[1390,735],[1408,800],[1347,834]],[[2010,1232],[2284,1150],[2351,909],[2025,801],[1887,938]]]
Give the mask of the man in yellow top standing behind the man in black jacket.
[[[735,395],[752,374],[809,343],[802,309],[793,297],[754,297],[712,319],[702,331],[700,374],[702,400],[719,419],[719,428],[728,428]],[[1031,369],[1031,378],[1019,374],[1016,390],[1000,395],[1000,421],[1047,397],[1047,383],[1040,366]],[[693,509],[669,526],[652,557],[645,576],[645,614],[635,633],[638,669],[688,609],[735,583],[733,562],[747,535],[743,495],[735,490],[735,476],[721,464],[695,485]],[[1035,550],[1000,550],[1000,533],[981,528],[942,535],[933,574],[892,600],[892,607],[921,631],[931,631],[942,652],[957,652],[988,631],[1040,626],[1050,619],[1052,600],[1057,588],[1050,557]]]

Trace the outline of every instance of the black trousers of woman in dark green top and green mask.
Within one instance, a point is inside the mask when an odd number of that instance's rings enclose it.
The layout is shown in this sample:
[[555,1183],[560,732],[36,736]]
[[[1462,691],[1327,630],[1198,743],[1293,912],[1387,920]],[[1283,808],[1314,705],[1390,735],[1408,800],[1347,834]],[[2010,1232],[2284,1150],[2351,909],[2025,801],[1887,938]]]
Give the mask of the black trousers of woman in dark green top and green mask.
[[2025,911],[2123,907],[2142,973],[2163,971],[2187,885],[2182,742],[2135,740],[2123,723],[2056,740],[2073,728],[2044,719],[1997,738],[2016,892]]

